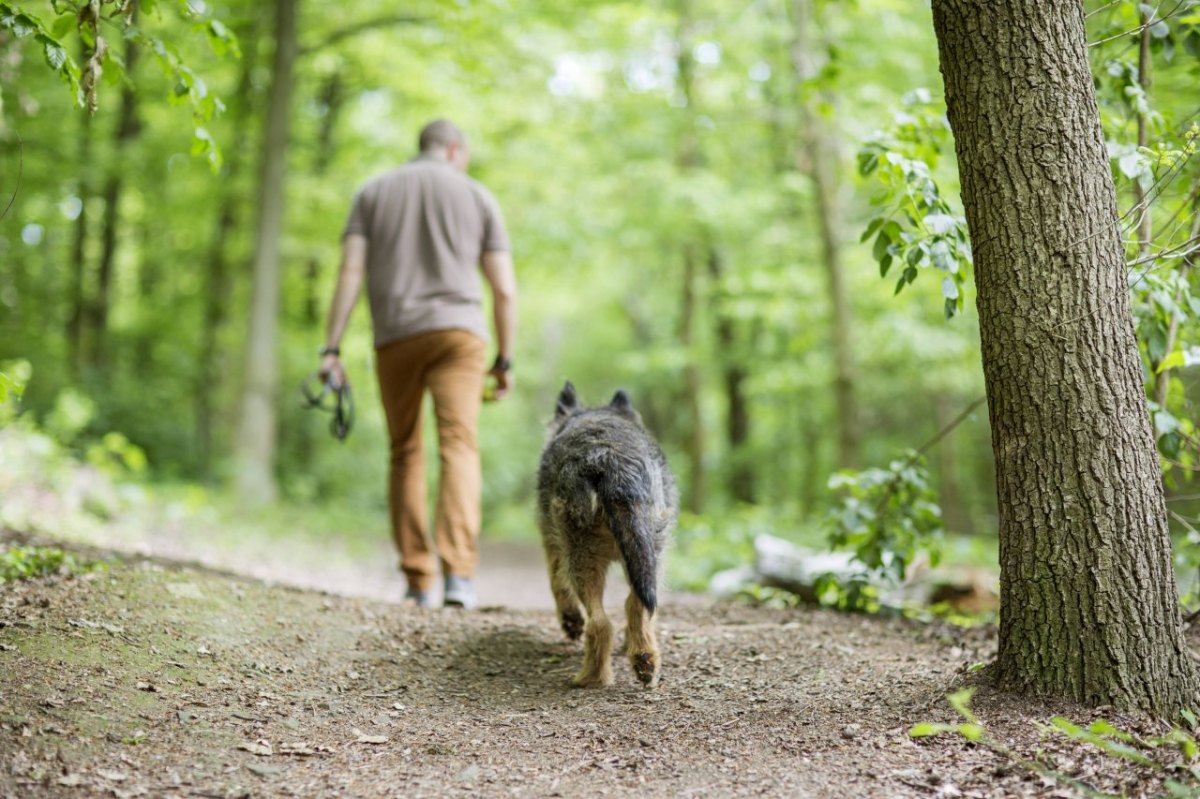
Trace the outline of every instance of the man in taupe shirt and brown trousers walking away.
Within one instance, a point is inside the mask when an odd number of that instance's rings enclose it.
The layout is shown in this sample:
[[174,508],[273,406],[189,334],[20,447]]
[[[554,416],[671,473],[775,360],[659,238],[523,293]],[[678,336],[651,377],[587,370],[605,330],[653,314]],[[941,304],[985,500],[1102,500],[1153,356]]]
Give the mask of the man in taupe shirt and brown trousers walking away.
[[[474,607],[480,473],[475,431],[485,373],[499,400],[512,388],[516,278],[504,218],[492,194],[466,175],[470,150],[446,120],[425,126],[420,155],[368,181],[342,234],[342,265],[329,313],[322,371],[340,384],[338,344],[364,276],[374,328],[379,392],[391,438],[389,505],[406,597],[432,603],[436,558],[426,535],[421,402],[433,395],[442,480],[437,559],[444,601]],[[492,289],[497,356],[485,368],[482,271]]]

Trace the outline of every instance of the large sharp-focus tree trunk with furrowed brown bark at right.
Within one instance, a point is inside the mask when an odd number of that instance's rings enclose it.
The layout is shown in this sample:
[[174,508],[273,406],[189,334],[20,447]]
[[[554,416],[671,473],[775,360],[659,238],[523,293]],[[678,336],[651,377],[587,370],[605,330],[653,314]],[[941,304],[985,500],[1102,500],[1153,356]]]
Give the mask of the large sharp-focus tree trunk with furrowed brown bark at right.
[[1194,707],[1078,2],[934,0],[1000,500],[1000,685]]

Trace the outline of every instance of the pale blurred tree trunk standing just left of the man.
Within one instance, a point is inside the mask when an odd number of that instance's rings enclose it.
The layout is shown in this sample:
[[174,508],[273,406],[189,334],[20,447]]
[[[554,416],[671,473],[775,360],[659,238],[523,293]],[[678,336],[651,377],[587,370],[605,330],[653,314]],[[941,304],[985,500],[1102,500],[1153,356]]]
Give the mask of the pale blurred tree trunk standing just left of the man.
[[263,134],[241,425],[234,452],[238,494],[242,501],[252,504],[269,503],[278,495],[275,481],[275,400],[278,374],[280,239],[283,230],[283,182],[296,55],[296,4],[298,0],[275,2],[275,59]]

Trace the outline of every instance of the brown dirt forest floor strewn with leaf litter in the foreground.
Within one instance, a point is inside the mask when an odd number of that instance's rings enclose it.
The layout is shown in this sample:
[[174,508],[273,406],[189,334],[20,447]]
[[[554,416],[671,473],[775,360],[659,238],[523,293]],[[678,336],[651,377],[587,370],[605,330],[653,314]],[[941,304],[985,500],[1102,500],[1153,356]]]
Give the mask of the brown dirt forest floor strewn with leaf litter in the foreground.
[[[944,697],[992,656],[990,629],[694,597],[660,609],[658,689],[618,662],[612,687],[577,690],[580,645],[550,609],[425,611],[71,548],[112,566],[0,585],[0,797],[1163,789],[1160,771],[1038,726],[1164,731],[1111,709],[980,690],[980,723],[1010,755],[910,738],[959,720]],[[502,571],[517,595],[544,584],[529,560]]]

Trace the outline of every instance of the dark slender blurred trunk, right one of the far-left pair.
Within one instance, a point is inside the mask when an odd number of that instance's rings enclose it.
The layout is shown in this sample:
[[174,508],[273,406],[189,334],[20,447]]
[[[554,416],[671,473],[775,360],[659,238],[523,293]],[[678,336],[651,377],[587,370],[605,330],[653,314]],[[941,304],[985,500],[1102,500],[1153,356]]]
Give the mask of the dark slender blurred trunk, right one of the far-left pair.
[[[137,4],[133,6],[132,23],[137,22]],[[132,80],[138,62],[138,46],[132,38],[125,40],[125,74]],[[108,361],[108,313],[109,296],[113,286],[113,264],[116,259],[116,230],[120,226],[121,190],[125,170],[128,163],[125,152],[128,144],[137,137],[138,96],[128,84],[121,90],[121,112],[116,124],[113,142],[113,161],[104,180],[104,215],[101,217],[100,264],[96,270],[96,295],[92,298],[89,314],[91,328],[91,348],[88,362],[92,367],[102,367]]]

